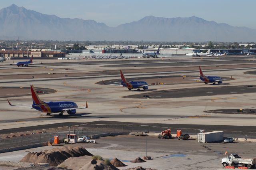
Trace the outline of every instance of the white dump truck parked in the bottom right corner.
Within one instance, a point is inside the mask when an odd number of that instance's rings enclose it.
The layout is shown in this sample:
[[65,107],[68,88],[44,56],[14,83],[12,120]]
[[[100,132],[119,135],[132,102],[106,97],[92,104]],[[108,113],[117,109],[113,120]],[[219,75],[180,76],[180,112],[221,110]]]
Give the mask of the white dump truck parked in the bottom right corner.
[[238,154],[230,154],[228,157],[221,160],[222,165],[225,166],[242,166],[248,169],[255,168],[256,158],[241,158]]

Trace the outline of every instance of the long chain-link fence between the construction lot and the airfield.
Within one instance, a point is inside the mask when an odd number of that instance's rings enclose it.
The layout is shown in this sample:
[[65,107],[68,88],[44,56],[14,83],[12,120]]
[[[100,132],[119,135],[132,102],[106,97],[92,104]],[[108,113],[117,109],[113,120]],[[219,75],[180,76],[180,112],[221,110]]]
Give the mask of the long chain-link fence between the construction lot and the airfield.
[[[171,128],[172,133],[176,133],[177,130],[182,130],[182,133],[188,133],[190,135],[197,135],[201,129],[194,128],[177,128],[177,127],[157,127],[157,126],[144,126],[144,125],[82,125],[82,126],[73,126],[70,128],[55,129],[55,132],[44,132],[36,134],[27,134],[24,136],[14,136],[5,138],[6,136],[0,136],[0,150],[6,148],[15,148],[20,146],[31,146],[34,147],[36,144],[42,144],[44,142],[53,142],[54,136],[59,136],[60,141],[63,138],[67,138],[67,134],[77,134],[77,136],[92,136],[95,134],[101,133],[112,133],[112,132],[133,132],[140,133],[148,130],[149,132],[160,133],[166,129]],[[214,130],[204,129],[205,132],[210,132]],[[50,131],[50,130],[49,130]],[[256,132],[238,132],[238,131],[224,131],[225,137],[233,138],[251,138],[256,139]]]

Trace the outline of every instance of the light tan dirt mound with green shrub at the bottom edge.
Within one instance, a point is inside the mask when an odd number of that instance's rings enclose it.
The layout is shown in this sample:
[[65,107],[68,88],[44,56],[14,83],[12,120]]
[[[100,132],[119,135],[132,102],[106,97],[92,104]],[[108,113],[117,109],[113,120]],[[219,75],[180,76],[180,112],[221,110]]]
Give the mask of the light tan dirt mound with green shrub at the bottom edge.
[[118,170],[112,164],[105,164],[104,160],[92,159],[92,156],[71,157],[58,167],[72,170]]

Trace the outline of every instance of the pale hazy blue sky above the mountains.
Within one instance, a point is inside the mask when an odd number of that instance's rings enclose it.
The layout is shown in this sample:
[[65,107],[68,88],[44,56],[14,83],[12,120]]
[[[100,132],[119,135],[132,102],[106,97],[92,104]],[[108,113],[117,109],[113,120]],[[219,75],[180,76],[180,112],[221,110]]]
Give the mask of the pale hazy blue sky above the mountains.
[[82,18],[118,26],[145,16],[165,18],[197,16],[217,23],[256,29],[256,0],[1,0],[60,18]]

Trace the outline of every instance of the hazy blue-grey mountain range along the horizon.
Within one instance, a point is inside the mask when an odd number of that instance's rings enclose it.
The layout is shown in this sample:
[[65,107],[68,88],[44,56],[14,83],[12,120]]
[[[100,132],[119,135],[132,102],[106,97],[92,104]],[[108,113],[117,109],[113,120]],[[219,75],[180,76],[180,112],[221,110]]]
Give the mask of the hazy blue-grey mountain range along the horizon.
[[12,4],[0,10],[0,39],[16,40],[130,40],[168,42],[254,42],[256,30],[218,24],[196,16],[141,20],[109,27],[94,20],[59,18]]

